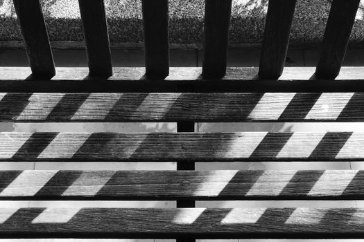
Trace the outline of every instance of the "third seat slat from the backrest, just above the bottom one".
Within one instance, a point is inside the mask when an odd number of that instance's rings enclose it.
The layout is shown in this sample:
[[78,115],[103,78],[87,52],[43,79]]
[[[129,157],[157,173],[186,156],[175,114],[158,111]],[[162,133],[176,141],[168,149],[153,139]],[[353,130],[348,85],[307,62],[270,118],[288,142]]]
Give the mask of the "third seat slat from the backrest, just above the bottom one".
[[348,200],[364,171],[0,171],[1,200]]

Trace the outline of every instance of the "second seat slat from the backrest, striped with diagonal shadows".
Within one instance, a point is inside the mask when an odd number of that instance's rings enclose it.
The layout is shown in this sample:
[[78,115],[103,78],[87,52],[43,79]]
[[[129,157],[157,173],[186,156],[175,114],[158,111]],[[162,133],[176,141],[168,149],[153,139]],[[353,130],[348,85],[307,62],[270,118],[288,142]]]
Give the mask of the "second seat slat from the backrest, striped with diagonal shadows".
[[0,133],[0,160],[363,160],[364,133]]

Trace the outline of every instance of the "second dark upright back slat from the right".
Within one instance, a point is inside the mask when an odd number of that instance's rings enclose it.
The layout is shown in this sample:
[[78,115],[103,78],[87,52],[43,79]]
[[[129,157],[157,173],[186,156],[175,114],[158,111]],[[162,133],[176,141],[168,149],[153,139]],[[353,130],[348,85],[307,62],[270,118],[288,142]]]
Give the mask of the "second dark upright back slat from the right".
[[259,77],[277,79],[283,72],[296,0],[270,0]]

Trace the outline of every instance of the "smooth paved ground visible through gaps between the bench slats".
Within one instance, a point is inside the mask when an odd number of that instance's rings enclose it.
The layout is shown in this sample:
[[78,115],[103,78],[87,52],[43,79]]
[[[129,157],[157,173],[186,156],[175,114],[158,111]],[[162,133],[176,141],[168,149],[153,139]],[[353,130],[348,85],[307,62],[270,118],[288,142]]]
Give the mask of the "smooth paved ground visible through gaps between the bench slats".
[[[257,48],[229,49],[228,66],[259,66]],[[288,51],[286,66],[315,66],[318,60],[318,49],[292,48]],[[85,50],[54,50],[56,66],[87,66]],[[144,66],[144,50],[114,49],[112,50],[114,66]],[[171,50],[171,66],[201,66],[202,51]],[[364,49],[349,49],[344,66],[363,66]],[[24,50],[0,50],[0,66],[28,66]],[[175,123],[139,123],[139,124],[2,124],[0,131],[120,131],[150,132],[175,131]],[[364,125],[327,124],[327,123],[198,123],[199,132],[216,131],[364,131]],[[175,169],[175,163],[42,163],[42,162],[6,162],[0,169]],[[364,169],[363,162],[224,162],[197,163],[196,169]],[[3,206],[116,206],[116,207],[174,207],[173,201],[162,202],[0,202]],[[219,201],[197,202],[198,207],[364,207],[363,201]],[[130,240],[129,240],[130,241]],[[148,240],[153,241],[153,240]],[[159,240],[158,240],[159,241]],[[239,240],[234,240],[239,242]]]

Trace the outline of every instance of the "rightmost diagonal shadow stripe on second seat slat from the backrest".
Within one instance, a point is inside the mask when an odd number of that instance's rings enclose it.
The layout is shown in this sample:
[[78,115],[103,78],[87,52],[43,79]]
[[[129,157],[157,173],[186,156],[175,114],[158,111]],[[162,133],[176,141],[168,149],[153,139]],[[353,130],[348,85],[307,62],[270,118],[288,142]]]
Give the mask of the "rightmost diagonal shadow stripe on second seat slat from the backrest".
[[327,159],[335,158],[345,145],[347,140],[352,136],[352,132],[327,132],[322,140],[312,151],[310,158],[320,158],[324,156]]

